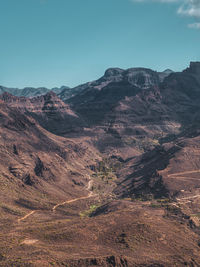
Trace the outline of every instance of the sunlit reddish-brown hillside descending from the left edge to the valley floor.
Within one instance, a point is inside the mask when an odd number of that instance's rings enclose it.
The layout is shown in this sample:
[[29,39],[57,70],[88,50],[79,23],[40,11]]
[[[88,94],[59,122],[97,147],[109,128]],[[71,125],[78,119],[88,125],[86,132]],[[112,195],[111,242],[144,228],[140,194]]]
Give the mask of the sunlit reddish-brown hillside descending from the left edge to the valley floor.
[[51,134],[0,100],[0,159],[1,206],[18,205],[25,211],[82,196],[87,165],[98,156],[89,145]]

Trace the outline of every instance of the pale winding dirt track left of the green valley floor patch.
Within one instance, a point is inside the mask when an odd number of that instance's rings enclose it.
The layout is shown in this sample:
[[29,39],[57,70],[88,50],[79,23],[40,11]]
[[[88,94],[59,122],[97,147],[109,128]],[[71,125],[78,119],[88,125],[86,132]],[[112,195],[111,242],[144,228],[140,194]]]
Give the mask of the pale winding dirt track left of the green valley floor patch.
[[[76,202],[78,200],[82,200],[82,199],[88,199],[88,198],[91,198],[91,197],[94,197],[94,196],[97,196],[97,194],[94,194],[92,191],[90,191],[90,188],[92,187],[92,179],[89,178],[89,182],[88,182],[88,185],[87,185],[87,188],[86,190],[89,192],[89,194],[85,197],[78,197],[78,198],[74,198],[74,199],[71,199],[71,200],[66,200],[64,202],[61,202],[61,203],[58,203],[57,205],[55,205],[53,208],[52,208],[52,211],[55,212],[56,209],[60,206],[63,206],[65,204],[69,204],[69,203],[73,203],[73,202]],[[28,214],[26,214],[24,217],[18,219],[18,222],[22,222],[24,221],[25,219],[27,219],[29,216],[33,215],[34,213],[36,212],[36,210],[33,210],[31,212],[29,212]]]

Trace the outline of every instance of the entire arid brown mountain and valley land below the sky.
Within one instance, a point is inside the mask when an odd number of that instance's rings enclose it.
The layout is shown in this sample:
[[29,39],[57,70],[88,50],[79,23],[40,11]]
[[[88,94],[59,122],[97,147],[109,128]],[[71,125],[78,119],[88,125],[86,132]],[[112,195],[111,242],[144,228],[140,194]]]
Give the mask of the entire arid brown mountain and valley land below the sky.
[[200,62],[0,89],[0,266],[200,266]]

